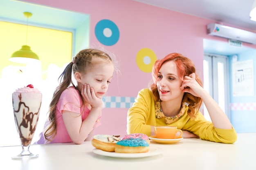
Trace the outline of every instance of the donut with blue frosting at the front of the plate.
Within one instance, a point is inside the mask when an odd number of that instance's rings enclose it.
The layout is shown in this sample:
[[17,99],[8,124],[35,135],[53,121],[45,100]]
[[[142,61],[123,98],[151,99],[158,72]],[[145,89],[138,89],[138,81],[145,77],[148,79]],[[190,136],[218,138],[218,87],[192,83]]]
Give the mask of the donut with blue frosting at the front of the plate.
[[149,151],[149,144],[140,138],[122,139],[116,143],[117,153],[143,153]]

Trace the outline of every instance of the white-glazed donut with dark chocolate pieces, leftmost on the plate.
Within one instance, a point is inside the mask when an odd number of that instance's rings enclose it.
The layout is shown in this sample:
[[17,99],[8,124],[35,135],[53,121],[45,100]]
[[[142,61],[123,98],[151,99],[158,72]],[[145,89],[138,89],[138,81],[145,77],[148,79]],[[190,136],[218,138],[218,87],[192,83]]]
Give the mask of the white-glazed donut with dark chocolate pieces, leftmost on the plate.
[[108,134],[97,134],[93,136],[92,145],[96,149],[100,149],[107,152],[115,152],[116,143],[121,139],[119,136]]

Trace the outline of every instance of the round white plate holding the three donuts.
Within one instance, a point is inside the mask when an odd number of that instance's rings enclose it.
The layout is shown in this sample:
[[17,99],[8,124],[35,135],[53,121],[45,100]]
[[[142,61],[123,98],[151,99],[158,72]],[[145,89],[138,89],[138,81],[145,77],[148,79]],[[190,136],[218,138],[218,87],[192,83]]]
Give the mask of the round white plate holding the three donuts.
[[94,149],[92,151],[95,154],[99,154],[106,157],[113,157],[113,158],[143,158],[143,157],[151,157],[158,154],[162,154],[162,150],[153,146],[150,146],[149,151],[145,153],[116,153],[116,152],[106,152],[100,149]]

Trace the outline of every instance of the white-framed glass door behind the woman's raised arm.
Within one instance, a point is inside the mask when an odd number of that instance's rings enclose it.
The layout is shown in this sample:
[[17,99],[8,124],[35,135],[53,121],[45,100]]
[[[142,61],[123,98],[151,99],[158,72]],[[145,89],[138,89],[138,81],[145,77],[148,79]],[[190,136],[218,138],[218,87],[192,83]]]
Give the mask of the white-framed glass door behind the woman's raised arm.
[[[227,56],[204,54],[204,89],[229,118],[229,76]],[[204,117],[211,121],[204,106]]]

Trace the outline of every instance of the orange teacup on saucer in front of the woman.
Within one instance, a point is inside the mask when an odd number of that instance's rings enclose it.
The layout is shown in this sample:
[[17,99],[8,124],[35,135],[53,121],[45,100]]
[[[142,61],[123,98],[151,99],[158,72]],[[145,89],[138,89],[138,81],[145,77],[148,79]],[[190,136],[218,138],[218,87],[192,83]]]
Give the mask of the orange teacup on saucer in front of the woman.
[[177,139],[182,137],[182,130],[175,126],[155,126],[155,135],[159,139]]

